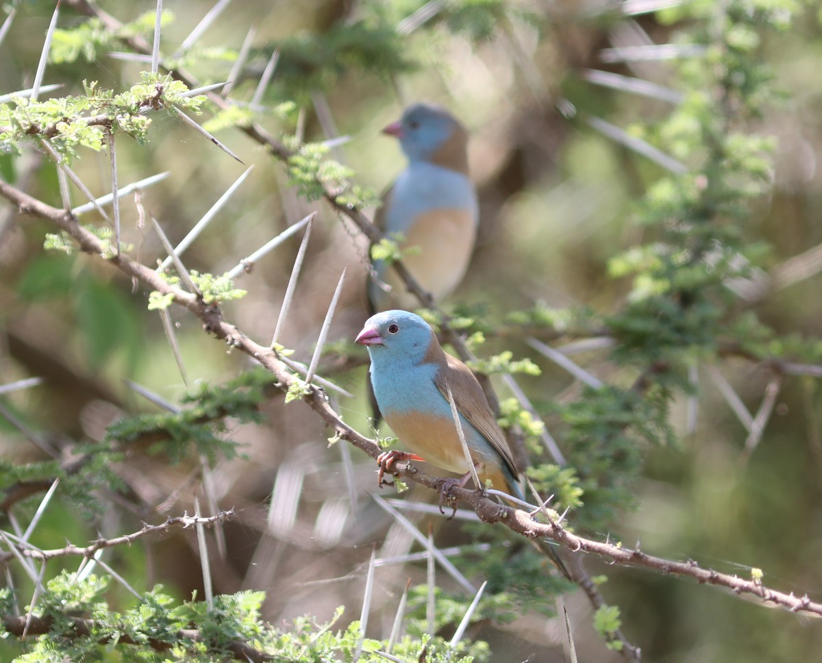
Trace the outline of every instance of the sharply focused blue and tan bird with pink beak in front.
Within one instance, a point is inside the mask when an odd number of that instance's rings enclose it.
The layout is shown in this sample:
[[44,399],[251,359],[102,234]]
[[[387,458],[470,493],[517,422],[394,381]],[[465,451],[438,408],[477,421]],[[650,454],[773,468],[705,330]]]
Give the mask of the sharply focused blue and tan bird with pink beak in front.
[[[497,490],[523,499],[519,472],[483,388],[468,366],[445,352],[436,334],[419,315],[384,311],[369,318],[357,336],[368,348],[371,381],[383,417],[413,454],[394,453],[381,467],[390,470],[395,459],[424,459],[461,479],[445,481],[464,486],[470,467],[448,400],[454,398],[465,441],[480,481],[491,480]],[[480,486],[484,487],[484,486]]]

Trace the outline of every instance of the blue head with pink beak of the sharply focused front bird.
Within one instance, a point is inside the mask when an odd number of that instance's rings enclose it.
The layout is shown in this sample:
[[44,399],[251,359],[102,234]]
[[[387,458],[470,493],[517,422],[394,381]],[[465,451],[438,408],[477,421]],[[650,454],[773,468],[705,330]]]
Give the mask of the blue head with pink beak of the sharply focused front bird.
[[428,352],[434,332],[419,315],[409,311],[384,311],[372,315],[357,334],[371,361],[419,364]]

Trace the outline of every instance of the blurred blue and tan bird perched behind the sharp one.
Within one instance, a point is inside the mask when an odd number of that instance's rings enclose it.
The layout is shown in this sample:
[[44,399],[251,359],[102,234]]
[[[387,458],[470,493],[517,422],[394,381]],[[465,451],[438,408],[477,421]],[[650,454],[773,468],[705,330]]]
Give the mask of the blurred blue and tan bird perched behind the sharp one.
[[[468,268],[477,235],[477,192],[468,176],[468,133],[445,108],[412,104],[399,122],[382,130],[399,139],[408,167],[383,196],[374,223],[389,237],[401,233],[403,265],[434,299],[450,294]],[[414,308],[419,302],[405,290],[394,269],[374,262],[368,283],[372,312]]]

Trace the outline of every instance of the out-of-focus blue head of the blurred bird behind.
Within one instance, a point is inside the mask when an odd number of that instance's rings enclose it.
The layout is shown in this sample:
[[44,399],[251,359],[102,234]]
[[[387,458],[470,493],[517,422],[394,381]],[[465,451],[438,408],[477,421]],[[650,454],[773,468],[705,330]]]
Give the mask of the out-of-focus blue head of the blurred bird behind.
[[462,150],[464,154],[468,140],[459,121],[445,108],[435,104],[411,104],[399,122],[388,125],[382,131],[399,138],[409,161],[436,162],[442,150],[457,153]]

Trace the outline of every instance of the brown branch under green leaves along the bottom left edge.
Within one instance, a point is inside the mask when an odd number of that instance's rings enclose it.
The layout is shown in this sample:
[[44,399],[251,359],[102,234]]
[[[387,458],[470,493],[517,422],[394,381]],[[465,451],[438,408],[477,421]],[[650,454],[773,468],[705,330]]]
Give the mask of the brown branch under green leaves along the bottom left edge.
[[[274,661],[275,656],[266,654],[265,651],[255,649],[247,642],[242,640],[232,640],[230,642],[209,642],[202,633],[196,628],[180,628],[174,633],[174,641],[166,641],[157,638],[155,633],[143,633],[144,638],[135,640],[132,634],[136,634],[132,629],[127,632],[125,628],[118,629],[116,633],[111,633],[109,624],[98,624],[94,619],[83,619],[81,617],[72,617],[69,615],[61,615],[61,623],[67,621],[71,624],[69,628],[59,633],[60,638],[88,638],[95,631],[106,630],[108,633],[99,638],[97,642],[101,645],[109,644],[109,642],[116,642],[118,645],[137,645],[145,646],[146,644],[155,651],[169,651],[172,647],[185,646],[185,642],[205,642],[215,650],[230,651],[232,658],[236,661],[252,661],[252,663],[263,663],[263,661]],[[51,615],[2,615],[2,628],[7,633],[11,633],[17,638],[22,638],[32,635],[47,635],[53,634],[52,628],[54,626],[54,618]],[[222,659],[221,659],[222,660]],[[283,661],[282,658],[276,658],[277,661]]]

